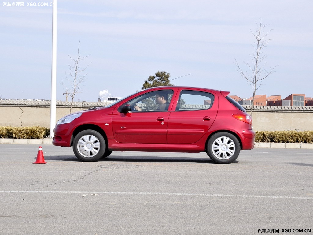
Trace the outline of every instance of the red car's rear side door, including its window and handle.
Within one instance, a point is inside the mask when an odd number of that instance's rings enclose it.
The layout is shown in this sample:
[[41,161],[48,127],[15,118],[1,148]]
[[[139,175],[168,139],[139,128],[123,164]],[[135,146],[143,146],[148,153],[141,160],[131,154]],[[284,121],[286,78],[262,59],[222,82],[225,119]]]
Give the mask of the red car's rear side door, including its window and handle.
[[197,90],[181,90],[167,125],[168,144],[192,144],[212,126],[218,111],[218,96]]

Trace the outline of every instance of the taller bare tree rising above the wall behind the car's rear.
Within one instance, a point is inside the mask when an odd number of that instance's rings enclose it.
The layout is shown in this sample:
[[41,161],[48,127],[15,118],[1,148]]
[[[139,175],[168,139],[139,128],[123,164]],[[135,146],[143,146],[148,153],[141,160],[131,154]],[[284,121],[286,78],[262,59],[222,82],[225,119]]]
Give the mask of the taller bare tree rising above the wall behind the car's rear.
[[251,105],[251,112],[250,115],[252,116],[253,112],[253,103],[254,103],[254,97],[255,92],[259,89],[259,87],[262,84],[262,80],[267,78],[272,72],[274,72],[275,67],[269,68],[266,70],[266,63],[263,62],[263,60],[267,57],[267,55],[263,55],[263,49],[266,46],[266,44],[270,41],[270,39],[265,39],[266,36],[269,34],[269,31],[264,32],[264,28],[268,26],[268,24],[263,24],[262,19],[259,24],[257,24],[257,29],[253,32],[251,30],[251,33],[254,35],[255,38],[255,45],[254,45],[254,51],[253,54],[250,55],[252,60],[252,65],[249,63],[244,63],[250,72],[247,72],[246,70],[242,69],[242,67],[237,63],[237,60],[235,59],[235,65],[238,67],[238,72],[241,74],[242,77],[246,79],[248,84],[252,87],[253,91],[253,97],[252,97],[252,105]]

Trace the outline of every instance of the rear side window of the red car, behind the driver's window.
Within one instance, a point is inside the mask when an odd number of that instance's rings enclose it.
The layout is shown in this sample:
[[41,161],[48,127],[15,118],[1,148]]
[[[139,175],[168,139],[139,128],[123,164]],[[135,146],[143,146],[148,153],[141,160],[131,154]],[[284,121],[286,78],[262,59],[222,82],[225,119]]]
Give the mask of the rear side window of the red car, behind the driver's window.
[[203,110],[212,107],[214,96],[202,91],[182,91],[176,111]]

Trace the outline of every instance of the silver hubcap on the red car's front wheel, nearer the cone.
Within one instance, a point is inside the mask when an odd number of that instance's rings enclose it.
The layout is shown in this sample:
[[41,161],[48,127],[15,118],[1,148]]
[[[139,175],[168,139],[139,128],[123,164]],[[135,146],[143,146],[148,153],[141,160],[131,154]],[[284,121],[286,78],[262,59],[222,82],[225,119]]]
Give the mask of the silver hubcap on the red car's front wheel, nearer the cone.
[[93,135],[84,135],[78,140],[77,149],[82,156],[91,158],[100,150],[99,139]]

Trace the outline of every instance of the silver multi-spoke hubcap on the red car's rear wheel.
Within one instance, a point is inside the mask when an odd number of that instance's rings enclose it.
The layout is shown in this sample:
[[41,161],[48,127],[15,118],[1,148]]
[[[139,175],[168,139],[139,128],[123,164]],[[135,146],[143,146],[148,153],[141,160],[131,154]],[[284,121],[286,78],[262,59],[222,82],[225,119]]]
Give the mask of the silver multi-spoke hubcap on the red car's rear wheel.
[[235,153],[235,149],[233,140],[225,136],[217,138],[212,145],[213,154],[219,159],[231,158]]

